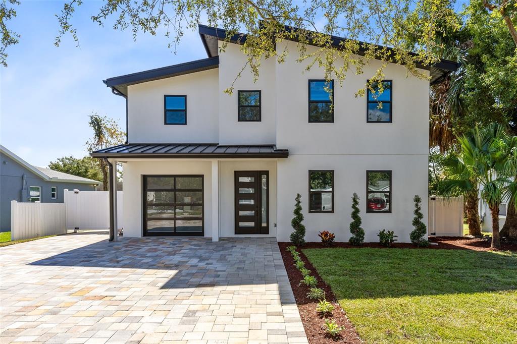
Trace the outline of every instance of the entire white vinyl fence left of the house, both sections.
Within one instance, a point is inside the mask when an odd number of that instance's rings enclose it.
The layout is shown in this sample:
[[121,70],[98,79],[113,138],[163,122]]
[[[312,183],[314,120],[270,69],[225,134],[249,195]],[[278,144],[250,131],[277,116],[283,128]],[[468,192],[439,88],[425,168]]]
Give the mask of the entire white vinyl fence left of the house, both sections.
[[[64,191],[64,203],[11,201],[11,240],[31,239],[67,230],[110,228],[108,191]],[[117,227],[122,228],[122,192],[117,191]]]

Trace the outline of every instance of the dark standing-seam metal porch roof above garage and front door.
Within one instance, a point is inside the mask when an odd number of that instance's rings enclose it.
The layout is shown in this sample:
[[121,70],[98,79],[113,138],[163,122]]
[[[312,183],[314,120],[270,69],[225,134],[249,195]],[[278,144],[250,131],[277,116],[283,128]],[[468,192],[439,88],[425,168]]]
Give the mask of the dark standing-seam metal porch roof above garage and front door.
[[275,145],[125,144],[91,153],[95,158],[287,158]]

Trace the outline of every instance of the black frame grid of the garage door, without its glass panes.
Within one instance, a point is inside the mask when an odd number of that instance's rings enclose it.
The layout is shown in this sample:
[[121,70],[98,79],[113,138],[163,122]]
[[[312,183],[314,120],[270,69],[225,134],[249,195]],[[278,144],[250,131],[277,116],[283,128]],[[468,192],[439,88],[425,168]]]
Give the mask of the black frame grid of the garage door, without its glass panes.
[[[147,179],[148,178],[174,178],[174,186],[172,189],[149,189],[147,187]],[[176,178],[201,178],[201,189],[177,189],[176,188]],[[151,206],[155,205],[164,205],[174,207],[174,217],[160,217],[154,220],[173,220],[174,221],[174,231],[173,232],[148,232],[147,231],[147,222],[152,221],[153,218],[150,219],[147,216],[147,192],[148,191],[168,191],[174,192],[174,202],[166,202],[159,204],[151,204]],[[201,203],[199,202],[190,202],[189,204],[184,202],[176,202],[176,192],[201,192]],[[181,220],[201,220],[201,232],[176,232],[176,206],[193,206],[193,207],[201,207],[201,218],[199,217],[191,217],[186,218],[183,217]],[[144,237],[162,237],[162,236],[184,236],[184,237],[203,237],[205,235],[205,176],[204,175],[143,175],[142,176],[142,213],[143,213],[143,236]]]

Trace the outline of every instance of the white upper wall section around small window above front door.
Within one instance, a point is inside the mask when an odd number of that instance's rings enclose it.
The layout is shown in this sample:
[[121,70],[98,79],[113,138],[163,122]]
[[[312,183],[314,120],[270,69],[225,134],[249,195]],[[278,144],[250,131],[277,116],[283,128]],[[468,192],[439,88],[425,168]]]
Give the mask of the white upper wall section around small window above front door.
[[[219,45],[222,43],[219,42]],[[260,76],[253,82],[247,57],[240,51],[240,45],[228,44],[219,56],[219,143],[235,144],[274,144],[276,124],[275,59],[261,61]],[[235,81],[235,83],[234,83]],[[224,90],[234,86],[232,95]],[[262,120],[260,122],[239,122],[237,113],[238,90],[260,90],[262,100]]]

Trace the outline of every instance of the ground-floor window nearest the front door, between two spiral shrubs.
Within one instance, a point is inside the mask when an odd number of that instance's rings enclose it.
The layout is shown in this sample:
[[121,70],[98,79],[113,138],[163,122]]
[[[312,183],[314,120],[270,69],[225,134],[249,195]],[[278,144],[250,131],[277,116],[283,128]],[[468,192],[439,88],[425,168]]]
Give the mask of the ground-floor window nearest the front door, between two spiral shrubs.
[[334,212],[334,171],[309,171],[309,212]]

